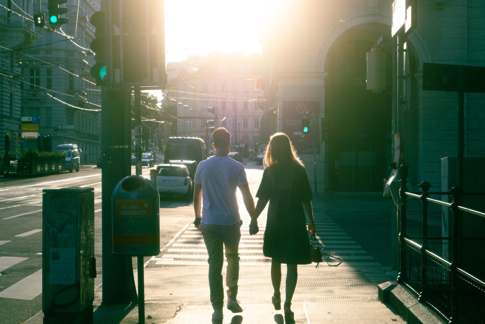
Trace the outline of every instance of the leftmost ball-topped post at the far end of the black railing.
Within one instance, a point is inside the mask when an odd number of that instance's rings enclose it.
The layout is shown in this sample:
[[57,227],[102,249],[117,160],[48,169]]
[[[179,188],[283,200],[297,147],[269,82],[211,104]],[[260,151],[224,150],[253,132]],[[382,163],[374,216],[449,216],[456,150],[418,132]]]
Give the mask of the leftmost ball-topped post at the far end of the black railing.
[[401,205],[401,225],[399,229],[399,274],[397,276],[398,282],[405,282],[406,281],[406,255],[405,255],[405,241],[404,238],[406,237],[406,184],[407,184],[407,176],[409,174],[409,170],[407,166],[401,164],[399,167],[399,176],[401,177],[401,188],[399,189],[399,200]]

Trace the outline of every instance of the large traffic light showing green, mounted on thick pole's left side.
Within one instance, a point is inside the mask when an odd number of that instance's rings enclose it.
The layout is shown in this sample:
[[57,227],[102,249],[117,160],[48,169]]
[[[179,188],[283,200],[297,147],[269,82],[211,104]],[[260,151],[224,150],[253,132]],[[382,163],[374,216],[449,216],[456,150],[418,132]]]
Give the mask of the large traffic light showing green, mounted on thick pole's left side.
[[96,63],[90,70],[90,74],[96,79],[96,85],[106,85],[106,33],[104,11],[97,11],[89,21],[96,28],[95,39],[90,44],[91,51],[95,52]]

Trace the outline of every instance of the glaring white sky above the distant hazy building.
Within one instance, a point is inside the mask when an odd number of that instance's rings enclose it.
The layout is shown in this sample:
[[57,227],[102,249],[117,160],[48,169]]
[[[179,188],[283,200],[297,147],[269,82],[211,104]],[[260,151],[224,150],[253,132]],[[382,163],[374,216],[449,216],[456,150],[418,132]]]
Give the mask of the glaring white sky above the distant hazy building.
[[165,0],[166,63],[189,55],[261,53],[263,14],[278,0]]

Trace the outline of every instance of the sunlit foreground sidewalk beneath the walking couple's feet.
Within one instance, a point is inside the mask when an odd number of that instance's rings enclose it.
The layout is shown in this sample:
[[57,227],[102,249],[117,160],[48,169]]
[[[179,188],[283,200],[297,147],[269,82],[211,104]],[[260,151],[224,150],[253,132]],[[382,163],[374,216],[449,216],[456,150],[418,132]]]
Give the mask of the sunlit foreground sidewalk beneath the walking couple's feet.
[[[319,212],[325,213],[322,211],[321,199],[319,197],[315,200],[314,209],[318,208]],[[208,266],[161,267],[154,263],[149,262],[144,269],[144,322],[138,321],[140,314],[136,305],[101,305],[102,280],[98,277],[95,280],[95,324],[211,323]],[[284,265],[282,274],[283,297],[286,276]],[[134,277],[136,282],[136,269]],[[392,285],[391,283],[395,284],[396,277],[396,272],[390,272],[385,267],[352,267],[344,264],[330,267],[325,262],[318,268],[315,265],[299,266],[298,284],[292,300],[294,323],[444,323],[424,309],[400,286]],[[269,264],[241,261],[239,285],[238,300],[243,311],[233,314],[224,308],[224,320],[221,324],[285,323],[283,310],[276,311],[271,304],[273,289]],[[384,304],[381,300],[389,303]],[[413,312],[417,314],[413,315]],[[43,313],[39,312],[25,324],[42,324],[42,318]]]

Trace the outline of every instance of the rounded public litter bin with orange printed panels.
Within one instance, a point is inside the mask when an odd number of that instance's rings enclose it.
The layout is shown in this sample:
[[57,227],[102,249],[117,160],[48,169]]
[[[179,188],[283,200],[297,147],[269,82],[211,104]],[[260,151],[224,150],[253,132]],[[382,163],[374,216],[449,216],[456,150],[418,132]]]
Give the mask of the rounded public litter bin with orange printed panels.
[[157,256],[160,253],[160,195],[140,175],[123,178],[113,190],[113,254]]

